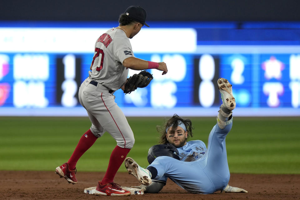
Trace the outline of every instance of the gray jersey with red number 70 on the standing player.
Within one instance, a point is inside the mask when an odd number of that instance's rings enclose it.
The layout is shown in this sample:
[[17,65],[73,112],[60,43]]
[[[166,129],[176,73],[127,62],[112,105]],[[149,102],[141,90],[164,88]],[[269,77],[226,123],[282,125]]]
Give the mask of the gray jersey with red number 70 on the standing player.
[[89,71],[89,77],[111,90],[118,90],[128,76],[128,68],[125,68],[122,63],[126,58],[133,56],[126,33],[112,28],[103,33],[95,43],[92,71]]

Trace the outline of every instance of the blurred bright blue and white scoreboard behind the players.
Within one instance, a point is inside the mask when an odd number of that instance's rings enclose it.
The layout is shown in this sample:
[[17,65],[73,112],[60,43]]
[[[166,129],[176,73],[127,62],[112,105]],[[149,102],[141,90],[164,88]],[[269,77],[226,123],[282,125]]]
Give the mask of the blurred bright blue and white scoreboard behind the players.
[[[272,116],[278,109],[300,115],[300,30],[297,23],[285,25],[245,23],[237,29],[235,23],[166,27],[153,22],[131,39],[133,52],[167,63],[169,71],[162,76],[150,70],[154,79],[148,87],[129,95],[118,90],[115,100],[128,116],[139,116],[142,108],[147,116],[215,114],[221,104],[216,83],[223,77],[233,85],[245,116],[250,111]],[[83,115],[78,89],[88,76],[94,42],[116,26],[0,22],[0,115]],[[78,112],[68,114],[64,108]]]

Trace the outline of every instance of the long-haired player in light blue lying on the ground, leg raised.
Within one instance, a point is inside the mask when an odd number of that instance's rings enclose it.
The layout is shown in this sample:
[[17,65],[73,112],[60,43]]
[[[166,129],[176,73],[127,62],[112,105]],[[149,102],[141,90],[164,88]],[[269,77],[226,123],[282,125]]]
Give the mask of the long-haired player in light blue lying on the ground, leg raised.
[[218,111],[217,124],[209,134],[207,148],[200,140],[187,142],[189,136],[192,137],[192,122],[175,114],[162,128],[162,144],[149,149],[147,169],[141,168],[132,158],[125,159],[128,172],[143,184],[137,188],[157,193],[170,178],[192,193],[247,192],[228,185],[230,173],[225,138],[232,128],[232,110],[236,103],[232,85],[226,79],[219,78],[218,87],[223,104]]

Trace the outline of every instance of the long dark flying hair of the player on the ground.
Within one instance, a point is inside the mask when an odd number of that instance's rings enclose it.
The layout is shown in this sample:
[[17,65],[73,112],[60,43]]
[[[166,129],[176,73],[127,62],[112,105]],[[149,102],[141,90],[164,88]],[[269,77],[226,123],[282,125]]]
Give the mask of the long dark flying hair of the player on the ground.
[[168,143],[168,140],[166,138],[166,128],[171,126],[172,124],[172,130],[171,133],[175,133],[176,128],[178,127],[178,120],[182,121],[182,123],[187,128],[187,139],[191,136],[193,137],[192,129],[192,121],[190,119],[183,119],[179,117],[177,114],[174,114],[173,117],[171,117],[167,123],[164,123],[162,126],[157,126],[156,129],[160,133],[159,143],[160,144],[166,144]]

